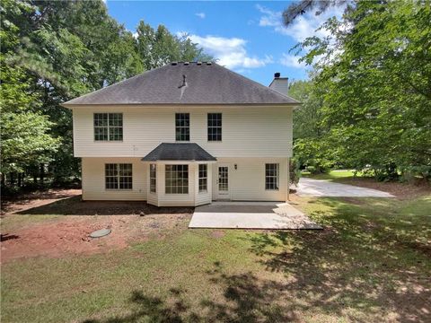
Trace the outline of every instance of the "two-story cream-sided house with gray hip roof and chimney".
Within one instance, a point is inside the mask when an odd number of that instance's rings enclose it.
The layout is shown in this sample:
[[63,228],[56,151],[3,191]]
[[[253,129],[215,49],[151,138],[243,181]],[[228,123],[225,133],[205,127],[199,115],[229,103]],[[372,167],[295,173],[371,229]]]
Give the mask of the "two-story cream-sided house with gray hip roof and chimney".
[[180,62],[69,100],[84,200],[204,205],[285,201],[287,79],[269,87],[211,62]]

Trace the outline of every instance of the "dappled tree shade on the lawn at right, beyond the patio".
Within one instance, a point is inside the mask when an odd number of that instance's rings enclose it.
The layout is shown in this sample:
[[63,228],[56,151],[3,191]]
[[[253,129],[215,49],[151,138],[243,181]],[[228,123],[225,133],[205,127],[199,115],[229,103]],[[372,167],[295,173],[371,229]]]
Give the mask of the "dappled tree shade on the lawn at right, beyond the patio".
[[[339,201],[319,199],[330,212],[310,214],[326,230],[250,235],[251,251],[268,271],[291,278],[286,290],[306,304],[303,310],[363,322],[388,313],[391,319],[383,320],[429,320],[431,229],[421,211],[427,207],[411,212],[378,200],[360,206]],[[429,199],[418,203],[431,209]]]

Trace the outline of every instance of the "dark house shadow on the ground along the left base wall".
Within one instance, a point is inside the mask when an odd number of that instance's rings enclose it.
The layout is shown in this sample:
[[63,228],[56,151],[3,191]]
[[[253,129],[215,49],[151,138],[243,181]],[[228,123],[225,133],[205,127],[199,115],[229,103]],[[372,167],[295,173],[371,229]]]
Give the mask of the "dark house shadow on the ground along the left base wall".
[[141,201],[82,201],[73,196],[40,205],[15,214],[53,215],[128,215],[128,214],[190,214],[192,207],[157,207]]

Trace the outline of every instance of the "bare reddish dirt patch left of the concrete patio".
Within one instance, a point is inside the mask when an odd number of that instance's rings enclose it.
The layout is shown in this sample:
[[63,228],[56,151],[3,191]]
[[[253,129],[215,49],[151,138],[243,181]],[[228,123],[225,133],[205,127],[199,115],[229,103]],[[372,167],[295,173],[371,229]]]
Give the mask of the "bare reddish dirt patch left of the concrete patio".
[[[158,239],[163,239],[161,230],[172,230],[180,224],[187,225],[185,220],[189,219],[189,214],[154,214],[145,217],[73,215],[57,219],[2,235],[2,263],[14,258],[62,258],[70,254],[93,254],[124,249],[128,248],[132,241],[154,237],[154,233]],[[89,237],[92,231],[105,228],[111,229],[109,235],[95,239]]]

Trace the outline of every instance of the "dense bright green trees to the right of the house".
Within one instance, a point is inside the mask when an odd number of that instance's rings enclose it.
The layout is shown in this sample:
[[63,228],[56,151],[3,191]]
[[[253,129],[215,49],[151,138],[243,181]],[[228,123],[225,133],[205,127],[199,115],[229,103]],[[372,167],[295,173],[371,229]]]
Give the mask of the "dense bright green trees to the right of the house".
[[[284,13],[345,2],[302,1]],[[291,87],[295,156],[319,172],[368,170],[377,179],[431,178],[431,3],[356,1],[341,21],[323,26],[293,51],[313,66],[310,81]]]

